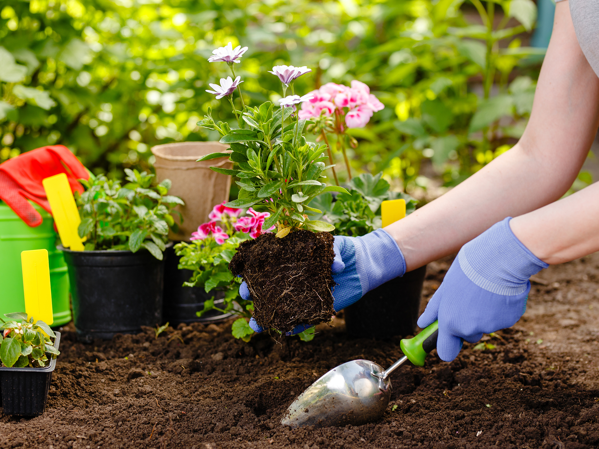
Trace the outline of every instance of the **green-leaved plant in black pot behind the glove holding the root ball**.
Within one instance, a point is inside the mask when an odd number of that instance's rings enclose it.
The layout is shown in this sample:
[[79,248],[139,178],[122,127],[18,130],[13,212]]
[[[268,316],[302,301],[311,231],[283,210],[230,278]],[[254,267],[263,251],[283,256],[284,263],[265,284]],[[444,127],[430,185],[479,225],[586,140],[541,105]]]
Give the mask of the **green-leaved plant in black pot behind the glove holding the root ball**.
[[[323,211],[321,220],[335,225],[337,235],[361,236],[382,226],[381,204],[392,199],[406,201],[406,214],[416,208],[416,200],[405,193],[392,192],[382,173],[368,173],[349,181],[349,193],[330,193],[310,203]],[[368,338],[406,336],[416,329],[426,266],[394,278],[344,309],[350,335]]]

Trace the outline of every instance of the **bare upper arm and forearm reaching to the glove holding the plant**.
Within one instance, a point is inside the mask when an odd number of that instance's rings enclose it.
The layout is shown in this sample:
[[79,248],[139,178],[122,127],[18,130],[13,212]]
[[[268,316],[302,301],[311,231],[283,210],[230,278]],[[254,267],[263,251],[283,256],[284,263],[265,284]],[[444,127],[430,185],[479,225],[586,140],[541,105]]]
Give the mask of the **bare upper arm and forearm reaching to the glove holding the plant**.
[[568,2],[553,36],[522,139],[455,189],[385,229],[408,271],[455,253],[494,223],[560,198],[576,178],[599,125],[599,78],[580,50]]

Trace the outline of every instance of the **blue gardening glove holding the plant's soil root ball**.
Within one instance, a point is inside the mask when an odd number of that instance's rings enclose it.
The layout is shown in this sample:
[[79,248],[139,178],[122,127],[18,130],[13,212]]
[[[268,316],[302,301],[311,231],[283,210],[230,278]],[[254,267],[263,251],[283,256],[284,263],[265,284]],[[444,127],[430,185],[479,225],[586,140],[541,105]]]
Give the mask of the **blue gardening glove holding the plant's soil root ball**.
[[[352,305],[386,281],[406,273],[406,260],[400,247],[383,229],[361,237],[335,235],[333,249],[335,259],[331,270],[337,284],[333,289],[335,312]],[[239,294],[243,299],[251,299],[245,282],[241,283]],[[254,318],[250,319],[250,327],[256,332],[264,330]],[[298,324],[289,335],[303,332],[309,327],[309,324]]]

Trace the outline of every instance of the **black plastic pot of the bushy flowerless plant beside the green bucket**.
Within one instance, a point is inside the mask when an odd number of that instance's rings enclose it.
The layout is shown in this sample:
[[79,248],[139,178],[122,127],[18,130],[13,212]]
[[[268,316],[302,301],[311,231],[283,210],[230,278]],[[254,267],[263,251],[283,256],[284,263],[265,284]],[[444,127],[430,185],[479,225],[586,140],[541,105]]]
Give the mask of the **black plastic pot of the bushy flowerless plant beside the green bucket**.
[[[170,243],[169,245],[172,245]],[[149,251],[64,251],[77,338],[92,342],[162,323],[164,260]]]

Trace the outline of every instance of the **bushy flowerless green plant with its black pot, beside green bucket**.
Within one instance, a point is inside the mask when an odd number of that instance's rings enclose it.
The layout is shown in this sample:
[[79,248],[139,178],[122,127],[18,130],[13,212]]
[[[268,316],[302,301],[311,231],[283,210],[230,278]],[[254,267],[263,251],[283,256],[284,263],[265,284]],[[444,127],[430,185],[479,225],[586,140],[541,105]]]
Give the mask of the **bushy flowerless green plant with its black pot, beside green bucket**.
[[64,251],[77,336],[82,341],[134,333],[162,322],[163,253],[171,211],[182,204],[167,195],[170,181],[125,169],[124,186],[105,176],[82,180],[75,195],[84,251]]

